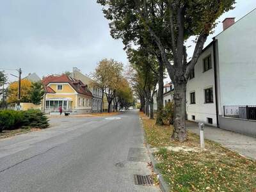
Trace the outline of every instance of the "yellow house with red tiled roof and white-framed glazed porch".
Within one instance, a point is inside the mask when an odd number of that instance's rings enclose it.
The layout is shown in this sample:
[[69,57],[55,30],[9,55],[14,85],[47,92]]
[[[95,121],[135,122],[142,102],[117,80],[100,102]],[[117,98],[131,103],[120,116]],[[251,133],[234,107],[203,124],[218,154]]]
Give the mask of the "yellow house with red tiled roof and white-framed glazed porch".
[[45,77],[42,83],[45,113],[59,113],[60,108],[72,114],[92,113],[92,93],[81,81],[62,75]]

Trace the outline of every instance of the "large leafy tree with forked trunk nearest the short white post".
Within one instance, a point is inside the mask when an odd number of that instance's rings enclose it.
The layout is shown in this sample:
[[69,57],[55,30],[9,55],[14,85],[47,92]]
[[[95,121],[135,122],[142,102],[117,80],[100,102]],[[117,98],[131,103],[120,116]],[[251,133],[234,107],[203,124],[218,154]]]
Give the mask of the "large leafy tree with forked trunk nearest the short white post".
[[[172,139],[185,141],[186,83],[207,36],[216,26],[216,19],[232,9],[235,0],[97,0],[97,3],[102,4],[104,16],[110,21],[109,27],[113,38],[121,38],[125,49],[136,45],[143,57],[153,58],[148,63],[139,62],[139,65],[149,68],[151,75],[157,72],[160,92],[163,87],[164,67],[166,68],[175,86]],[[185,43],[191,36],[195,37],[195,49],[188,62]],[[148,81],[145,73],[137,75],[143,81]],[[147,91],[147,97],[145,94],[143,97],[150,102],[154,88],[143,88]],[[159,93],[157,100],[163,103],[161,94],[163,93]],[[159,115],[162,109],[161,104],[158,108]],[[161,123],[161,120],[159,122]]]

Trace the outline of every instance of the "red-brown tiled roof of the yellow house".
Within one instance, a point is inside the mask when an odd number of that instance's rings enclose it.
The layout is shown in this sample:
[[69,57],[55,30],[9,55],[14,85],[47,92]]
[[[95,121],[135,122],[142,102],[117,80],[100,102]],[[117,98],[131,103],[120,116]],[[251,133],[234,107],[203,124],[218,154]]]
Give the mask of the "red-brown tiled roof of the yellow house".
[[48,86],[49,83],[68,83],[68,84],[70,84],[70,86],[72,86],[72,88],[74,88],[74,90],[76,90],[77,93],[80,93],[80,94],[83,94],[83,95],[88,95],[88,96],[92,97],[92,93],[90,92],[90,90],[86,89],[86,87],[87,87],[86,84],[83,84],[82,81],[74,79],[72,77],[69,77],[65,74],[63,74],[62,76],[48,76],[48,77],[45,77],[42,80],[42,83],[44,84],[45,92],[47,92],[47,93],[53,93],[54,92],[54,90],[52,90]]

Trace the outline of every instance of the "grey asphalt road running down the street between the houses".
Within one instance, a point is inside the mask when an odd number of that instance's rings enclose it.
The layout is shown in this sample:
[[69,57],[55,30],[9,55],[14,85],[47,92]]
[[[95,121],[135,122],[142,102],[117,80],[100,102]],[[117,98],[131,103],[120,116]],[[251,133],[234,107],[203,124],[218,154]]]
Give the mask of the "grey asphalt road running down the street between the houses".
[[0,191],[159,191],[134,184],[151,172],[138,113],[114,117],[52,118],[0,140]]

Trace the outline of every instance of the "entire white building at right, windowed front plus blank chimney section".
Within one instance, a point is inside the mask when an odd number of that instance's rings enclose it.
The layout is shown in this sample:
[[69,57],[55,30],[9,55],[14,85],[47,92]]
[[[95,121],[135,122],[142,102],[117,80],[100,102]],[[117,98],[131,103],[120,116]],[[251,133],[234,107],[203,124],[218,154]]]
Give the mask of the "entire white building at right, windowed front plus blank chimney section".
[[256,9],[225,19],[205,47],[187,84],[188,120],[256,135],[255,20]]

